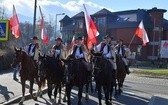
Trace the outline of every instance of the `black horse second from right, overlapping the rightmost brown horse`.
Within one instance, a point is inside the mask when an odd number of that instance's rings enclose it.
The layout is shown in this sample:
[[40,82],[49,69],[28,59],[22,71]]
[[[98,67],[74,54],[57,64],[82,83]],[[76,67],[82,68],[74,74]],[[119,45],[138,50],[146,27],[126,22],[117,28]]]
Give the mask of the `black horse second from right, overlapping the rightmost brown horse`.
[[98,99],[99,105],[102,105],[101,99],[101,88],[103,87],[105,93],[105,103],[109,105],[109,96],[110,96],[110,89],[112,85],[112,78],[113,78],[113,70],[112,65],[108,61],[108,59],[104,58],[102,53],[95,53],[93,54],[93,63],[94,63],[94,75],[96,81],[96,88],[98,90]]

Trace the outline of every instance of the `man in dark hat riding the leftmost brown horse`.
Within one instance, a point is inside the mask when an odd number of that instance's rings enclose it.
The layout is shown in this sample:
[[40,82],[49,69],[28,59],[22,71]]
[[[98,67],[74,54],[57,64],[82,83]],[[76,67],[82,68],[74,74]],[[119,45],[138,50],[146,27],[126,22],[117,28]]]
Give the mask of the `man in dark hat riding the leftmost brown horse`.
[[32,38],[32,43],[28,46],[28,55],[31,56],[32,60],[34,61],[34,66],[36,69],[38,69],[38,58],[40,53],[40,45],[39,45],[39,39],[37,36],[34,36]]

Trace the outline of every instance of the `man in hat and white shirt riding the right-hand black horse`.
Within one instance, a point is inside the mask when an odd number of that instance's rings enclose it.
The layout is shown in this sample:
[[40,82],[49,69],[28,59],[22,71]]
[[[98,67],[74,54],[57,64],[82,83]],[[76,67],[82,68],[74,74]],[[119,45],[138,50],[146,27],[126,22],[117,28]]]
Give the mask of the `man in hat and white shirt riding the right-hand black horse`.
[[[116,75],[116,62],[115,62],[115,51],[114,46],[111,44],[111,40],[113,39],[112,36],[107,35],[104,37],[104,41],[102,41],[100,44],[98,44],[95,48],[96,52],[102,52],[103,56],[108,59],[108,61],[111,63],[114,74]],[[114,76],[115,77],[115,76]]]

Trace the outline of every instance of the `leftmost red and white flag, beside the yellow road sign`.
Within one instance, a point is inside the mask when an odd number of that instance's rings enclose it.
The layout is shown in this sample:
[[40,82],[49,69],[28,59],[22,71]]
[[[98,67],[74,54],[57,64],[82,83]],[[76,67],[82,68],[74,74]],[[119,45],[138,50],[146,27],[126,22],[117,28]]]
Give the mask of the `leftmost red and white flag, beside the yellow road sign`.
[[13,5],[13,16],[11,16],[10,20],[10,30],[15,38],[20,37],[20,26],[19,26],[19,19],[16,14],[15,6]]

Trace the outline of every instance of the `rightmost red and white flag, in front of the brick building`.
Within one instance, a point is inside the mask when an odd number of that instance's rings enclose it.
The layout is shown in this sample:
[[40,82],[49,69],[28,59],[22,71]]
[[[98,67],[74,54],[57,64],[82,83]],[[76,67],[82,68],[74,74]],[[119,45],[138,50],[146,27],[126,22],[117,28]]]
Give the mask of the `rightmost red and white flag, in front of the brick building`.
[[143,46],[146,46],[146,43],[149,42],[148,35],[147,35],[146,30],[145,30],[144,25],[143,25],[143,20],[141,20],[138,28],[136,29],[135,35],[137,35],[139,38],[142,39],[142,41],[143,41],[142,45]]

